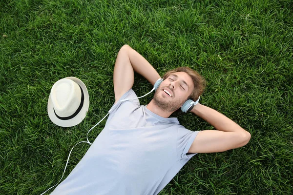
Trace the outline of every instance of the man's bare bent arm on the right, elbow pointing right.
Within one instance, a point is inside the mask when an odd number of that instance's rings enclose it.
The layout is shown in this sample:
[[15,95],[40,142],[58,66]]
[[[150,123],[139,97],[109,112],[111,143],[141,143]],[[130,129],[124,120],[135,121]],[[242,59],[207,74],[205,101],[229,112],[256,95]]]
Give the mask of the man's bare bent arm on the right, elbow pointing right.
[[191,112],[209,122],[218,131],[205,130],[199,132],[188,153],[224,152],[246,145],[251,138],[249,132],[228,117],[207,106],[198,103]]

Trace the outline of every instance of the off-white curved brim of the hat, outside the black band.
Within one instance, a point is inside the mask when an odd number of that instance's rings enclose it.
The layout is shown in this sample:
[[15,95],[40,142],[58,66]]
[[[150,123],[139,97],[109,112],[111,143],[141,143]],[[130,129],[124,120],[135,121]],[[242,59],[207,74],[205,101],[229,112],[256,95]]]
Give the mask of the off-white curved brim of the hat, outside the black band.
[[72,126],[78,125],[79,123],[81,123],[84,120],[86,113],[88,111],[88,107],[89,107],[89,95],[88,95],[86,86],[83,81],[81,81],[80,79],[75,78],[75,77],[66,77],[66,78],[73,80],[74,82],[76,82],[77,84],[79,84],[81,86],[81,88],[83,89],[83,92],[84,92],[84,105],[83,105],[81,111],[74,118],[71,118],[69,120],[62,120],[62,119],[59,119],[58,117],[56,117],[56,115],[54,113],[53,103],[52,103],[51,94],[50,94],[49,99],[48,99],[48,115],[49,115],[49,118],[51,119],[51,121],[58,126],[72,127]]

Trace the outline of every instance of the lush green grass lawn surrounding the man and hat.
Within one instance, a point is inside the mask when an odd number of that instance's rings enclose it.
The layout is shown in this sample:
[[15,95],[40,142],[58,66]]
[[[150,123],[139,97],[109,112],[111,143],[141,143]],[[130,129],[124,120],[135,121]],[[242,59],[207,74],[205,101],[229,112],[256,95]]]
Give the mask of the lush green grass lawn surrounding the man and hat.
[[[242,148],[192,157],[160,195],[293,194],[292,0],[2,0],[1,195],[38,195],[59,181],[71,147],[114,103],[124,44],[161,76],[178,66],[199,71],[208,83],[201,103],[251,133]],[[47,101],[70,76],[84,81],[90,106],[82,123],[62,128]],[[135,75],[133,89],[142,96],[152,86]],[[178,118],[190,130],[212,128],[193,114]],[[75,147],[65,176],[88,148]]]

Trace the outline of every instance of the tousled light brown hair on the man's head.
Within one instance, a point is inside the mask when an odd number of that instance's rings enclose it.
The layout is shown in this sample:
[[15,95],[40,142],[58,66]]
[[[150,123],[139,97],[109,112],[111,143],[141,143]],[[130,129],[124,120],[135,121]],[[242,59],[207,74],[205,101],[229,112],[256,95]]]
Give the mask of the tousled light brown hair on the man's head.
[[177,72],[185,72],[187,73],[193,80],[194,90],[192,91],[191,95],[188,97],[188,99],[192,99],[193,101],[196,101],[204,92],[204,89],[206,87],[206,80],[203,78],[197,71],[192,70],[191,68],[185,66],[185,67],[178,67],[173,70],[169,70],[164,76],[163,79],[165,80],[168,78],[171,74],[177,73]]

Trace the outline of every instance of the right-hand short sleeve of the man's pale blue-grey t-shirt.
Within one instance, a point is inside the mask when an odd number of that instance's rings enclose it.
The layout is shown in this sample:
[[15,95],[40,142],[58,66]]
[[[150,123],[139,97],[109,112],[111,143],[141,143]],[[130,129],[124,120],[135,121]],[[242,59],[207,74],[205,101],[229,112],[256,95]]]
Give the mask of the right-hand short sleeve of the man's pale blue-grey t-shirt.
[[188,162],[188,160],[196,155],[197,153],[188,153],[191,144],[193,143],[195,137],[199,131],[190,131],[183,126],[177,130],[177,156],[180,163],[183,165]]

